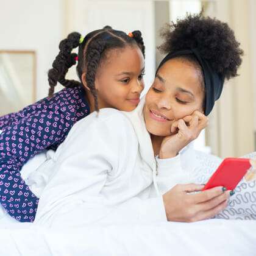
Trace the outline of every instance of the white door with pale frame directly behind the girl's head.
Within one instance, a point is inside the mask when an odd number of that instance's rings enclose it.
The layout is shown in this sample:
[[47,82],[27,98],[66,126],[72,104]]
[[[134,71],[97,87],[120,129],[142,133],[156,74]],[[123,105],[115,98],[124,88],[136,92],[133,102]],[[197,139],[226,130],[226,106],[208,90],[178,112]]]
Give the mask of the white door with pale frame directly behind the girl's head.
[[[129,0],[66,0],[65,36],[74,30],[83,35],[109,25],[113,29],[132,32],[140,30],[146,46],[145,90],[151,86],[155,75],[155,22],[154,1]],[[75,69],[68,78],[74,79]]]

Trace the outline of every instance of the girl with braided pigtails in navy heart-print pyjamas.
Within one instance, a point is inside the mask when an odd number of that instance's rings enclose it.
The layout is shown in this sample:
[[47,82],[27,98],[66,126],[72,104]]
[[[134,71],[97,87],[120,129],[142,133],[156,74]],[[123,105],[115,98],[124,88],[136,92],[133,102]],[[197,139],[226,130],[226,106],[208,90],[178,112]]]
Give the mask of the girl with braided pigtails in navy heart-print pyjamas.
[[[77,46],[78,55],[71,53]],[[56,149],[74,123],[94,110],[133,110],[144,88],[144,44],[138,30],[127,35],[107,26],[85,38],[73,32],[59,48],[48,73],[49,98],[0,118],[0,202],[21,222],[34,221],[38,205],[20,176],[24,164],[44,149]],[[77,58],[81,82],[66,80]],[[57,82],[66,88],[52,95]]]

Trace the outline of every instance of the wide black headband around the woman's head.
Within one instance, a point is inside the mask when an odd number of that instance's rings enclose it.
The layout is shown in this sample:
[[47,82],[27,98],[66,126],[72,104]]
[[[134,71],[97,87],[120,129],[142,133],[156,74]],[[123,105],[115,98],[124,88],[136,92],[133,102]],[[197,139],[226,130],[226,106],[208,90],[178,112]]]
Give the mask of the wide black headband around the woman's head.
[[[204,113],[206,116],[208,116],[213,109],[215,101],[219,99],[219,96],[221,96],[224,77],[219,76],[219,74],[213,71],[208,62],[201,58],[201,55],[197,49],[187,49],[167,54],[158,66],[157,71],[168,60],[185,54],[193,54],[199,62],[199,65],[202,67],[205,85]],[[155,74],[157,74],[157,71]]]

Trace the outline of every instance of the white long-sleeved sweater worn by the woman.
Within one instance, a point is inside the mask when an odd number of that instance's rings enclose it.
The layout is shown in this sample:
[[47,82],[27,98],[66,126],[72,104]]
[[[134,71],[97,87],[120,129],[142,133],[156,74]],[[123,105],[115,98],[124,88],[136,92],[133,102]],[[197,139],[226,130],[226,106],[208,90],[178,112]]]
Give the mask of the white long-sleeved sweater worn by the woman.
[[144,99],[133,112],[104,108],[73,126],[46,165],[53,174],[35,223],[167,221],[162,194],[191,177],[181,168],[180,154],[154,157],[143,105]]

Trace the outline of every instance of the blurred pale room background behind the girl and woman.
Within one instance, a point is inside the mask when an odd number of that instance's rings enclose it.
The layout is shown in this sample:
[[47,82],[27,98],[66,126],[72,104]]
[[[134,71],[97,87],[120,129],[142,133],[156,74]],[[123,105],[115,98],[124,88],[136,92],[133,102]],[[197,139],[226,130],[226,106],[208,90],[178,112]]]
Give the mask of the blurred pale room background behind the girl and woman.
[[[105,25],[143,33],[146,93],[163,58],[156,49],[162,42],[160,28],[187,12],[199,13],[202,7],[205,15],[232,27],[245,54],[240,76],[224,85],[195,147],[220,157],[255,151],[256,0],[0,0],[0,115],[47,96],[47,72],[60,40],[70,32],[86,35]],[[77,79],[74,68],[68,77]]]

